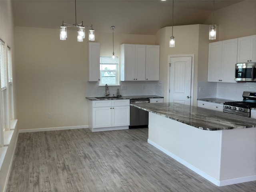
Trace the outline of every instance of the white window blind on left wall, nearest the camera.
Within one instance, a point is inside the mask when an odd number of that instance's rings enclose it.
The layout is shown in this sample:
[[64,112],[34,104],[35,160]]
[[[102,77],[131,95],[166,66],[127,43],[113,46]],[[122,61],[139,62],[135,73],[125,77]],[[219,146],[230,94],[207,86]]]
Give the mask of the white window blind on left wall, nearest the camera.
[[1,90],[7,88],[7,69],[6,69],[6,53],[4,42],[0,40],[0,75],[1,75]]

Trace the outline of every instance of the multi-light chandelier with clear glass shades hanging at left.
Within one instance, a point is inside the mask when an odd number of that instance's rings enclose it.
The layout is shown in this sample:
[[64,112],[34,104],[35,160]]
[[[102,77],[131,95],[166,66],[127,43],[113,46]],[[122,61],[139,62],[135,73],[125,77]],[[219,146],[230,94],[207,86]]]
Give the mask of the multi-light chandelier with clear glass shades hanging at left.
[[[75,16],[76,16],[76,0],[75,0]],[[60,26],[60,40],[66,40],[67,38],[67,27],[77,27],[78,32],[77,32],[77,41],[78,42],[83,42],[85,38],[85,28],[90,27],[91,29],[89,30],[89,41],[94,41],[95,35],[94,35],[94,30],[92,29],[91,26],[83,26],[83,21],[80,24],[70,24],[70,23],[64,23],[62,21],[62,26]]]

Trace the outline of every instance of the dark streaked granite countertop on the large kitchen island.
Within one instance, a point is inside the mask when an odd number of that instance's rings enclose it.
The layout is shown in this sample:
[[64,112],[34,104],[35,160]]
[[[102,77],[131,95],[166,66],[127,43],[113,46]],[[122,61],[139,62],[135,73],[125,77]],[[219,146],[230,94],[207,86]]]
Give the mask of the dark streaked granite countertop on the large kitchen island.
[[180,103],[140,103],[131,106],[202,130],[230,130],[256,127],[256,119]]

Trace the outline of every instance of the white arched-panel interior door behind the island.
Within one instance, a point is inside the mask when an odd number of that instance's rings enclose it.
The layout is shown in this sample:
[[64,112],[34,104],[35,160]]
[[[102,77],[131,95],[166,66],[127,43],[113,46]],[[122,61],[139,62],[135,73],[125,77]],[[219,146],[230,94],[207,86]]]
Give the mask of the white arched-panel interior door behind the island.
[[191,103],[192,57],[170,57],[169,102]]

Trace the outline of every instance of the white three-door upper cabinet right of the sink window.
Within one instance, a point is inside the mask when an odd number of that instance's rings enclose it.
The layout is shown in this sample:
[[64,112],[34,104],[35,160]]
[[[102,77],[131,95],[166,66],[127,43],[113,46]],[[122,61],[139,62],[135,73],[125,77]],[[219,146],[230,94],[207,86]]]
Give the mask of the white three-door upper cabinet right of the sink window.
[[121,81],[159,80],[160,46],[121,45]]

